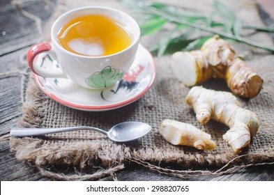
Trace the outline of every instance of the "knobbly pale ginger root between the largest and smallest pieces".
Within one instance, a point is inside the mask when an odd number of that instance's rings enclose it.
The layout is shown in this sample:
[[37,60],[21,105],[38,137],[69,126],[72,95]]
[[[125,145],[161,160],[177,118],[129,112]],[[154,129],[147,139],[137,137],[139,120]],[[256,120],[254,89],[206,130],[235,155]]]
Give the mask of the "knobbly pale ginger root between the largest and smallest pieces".
[[259,128],[257,115],[241,108],[240,102],[229,92],[195,86],[190,89],[185,102],[194,109],[199,123],[205,124],[212,118],[230,127],[222,138],[235,153],[250,145],[251,137]]

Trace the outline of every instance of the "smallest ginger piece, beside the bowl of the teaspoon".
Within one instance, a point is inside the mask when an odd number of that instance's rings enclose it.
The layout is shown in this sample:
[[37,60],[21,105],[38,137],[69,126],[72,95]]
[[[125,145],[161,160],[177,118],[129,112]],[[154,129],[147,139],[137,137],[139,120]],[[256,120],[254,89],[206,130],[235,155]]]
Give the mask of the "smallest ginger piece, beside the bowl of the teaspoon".
[[212,150],[216,144],[211,140],[211,135],[198,130],[196,127],[165,119],[160,123],[159,133],[166,141],[174,145],[192,146],[199,150]]

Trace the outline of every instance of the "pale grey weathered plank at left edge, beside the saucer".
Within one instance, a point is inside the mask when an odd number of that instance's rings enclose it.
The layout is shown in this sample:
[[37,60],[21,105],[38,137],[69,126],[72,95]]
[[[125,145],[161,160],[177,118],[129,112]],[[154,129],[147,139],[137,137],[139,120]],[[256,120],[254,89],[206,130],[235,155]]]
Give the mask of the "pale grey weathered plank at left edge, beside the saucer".
[[20,63],[20,56],[26,49],[0,57],[0,134],[5,134],[22,116],[22,77],[26,65]]

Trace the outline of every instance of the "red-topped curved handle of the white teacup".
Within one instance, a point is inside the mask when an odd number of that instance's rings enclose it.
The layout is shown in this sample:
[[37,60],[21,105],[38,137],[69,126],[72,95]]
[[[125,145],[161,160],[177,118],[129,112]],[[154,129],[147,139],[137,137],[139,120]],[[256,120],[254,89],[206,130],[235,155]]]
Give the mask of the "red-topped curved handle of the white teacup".
[[52,45],[50,43],[38,43],[33,45],[30,49],[28,54],[26,55],[26,59],[29,63],[29,68],[31,71],[42,77],[53,77],[53,78],[67,78],[66,75],[63,73],[61,68],[43,68],[40,65],[33,63],[34,59],[38,54],[46,52],[47,54],[51,54],[55,58],[55,53],[52,50]]

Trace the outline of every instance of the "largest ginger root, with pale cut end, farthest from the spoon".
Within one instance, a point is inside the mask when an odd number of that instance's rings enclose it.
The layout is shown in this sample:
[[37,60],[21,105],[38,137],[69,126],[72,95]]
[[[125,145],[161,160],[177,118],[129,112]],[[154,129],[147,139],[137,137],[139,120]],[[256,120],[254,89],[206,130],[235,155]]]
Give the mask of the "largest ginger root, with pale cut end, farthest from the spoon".
[[211,77],[225,79],[231,92],[243,98],[254,98],[263,84],[261,77],[219,36],[204,42],[201,50],[174,53],[171,67],[175,77],[187,86]]

